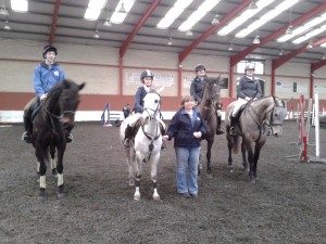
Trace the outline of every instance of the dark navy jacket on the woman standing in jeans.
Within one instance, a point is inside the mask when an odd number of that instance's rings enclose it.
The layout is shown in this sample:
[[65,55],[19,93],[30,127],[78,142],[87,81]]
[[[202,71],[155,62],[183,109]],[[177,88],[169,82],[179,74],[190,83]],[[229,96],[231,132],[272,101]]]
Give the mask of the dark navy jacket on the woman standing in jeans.
[[201,138],[193,137],[193,132],[201,131],[202,137],[205,133],[205,126],[201,115],[193,110],[193,119],[191,123],[189,114],[185,110],[178,111],[172,118],[167,131],[168,140],[174,138],[174,147],[199,147]]

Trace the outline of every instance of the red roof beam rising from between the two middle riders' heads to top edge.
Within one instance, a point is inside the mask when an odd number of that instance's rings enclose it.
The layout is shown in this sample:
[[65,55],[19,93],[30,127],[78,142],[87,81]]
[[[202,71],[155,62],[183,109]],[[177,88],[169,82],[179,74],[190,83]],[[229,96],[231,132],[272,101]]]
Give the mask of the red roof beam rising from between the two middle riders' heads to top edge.
[[225,25],[229,20],[236,16],[239,12],[241,12],[247,5],[249,5],[251,0],[242,1],[236,9],[229,12],[223,20],[221,20],[220,24],[213,25],[205,33],[203,33],[196,41],[193,41],[189,47],[187,47],[183,52],[179,53],[179,63],[181,63],[188,54],[203,40],[205,40],[209,36],[211,36],[214,31],[216,31],[221,26]]

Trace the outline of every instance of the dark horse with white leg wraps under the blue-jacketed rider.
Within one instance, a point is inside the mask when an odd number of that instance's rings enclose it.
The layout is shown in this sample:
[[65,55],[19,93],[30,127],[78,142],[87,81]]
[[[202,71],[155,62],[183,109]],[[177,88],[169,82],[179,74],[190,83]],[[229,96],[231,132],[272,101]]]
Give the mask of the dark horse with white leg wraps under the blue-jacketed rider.
[[40,103],[40,107],[33,121],[32,143],[39,164],[39,196],[46,196],[46,171],[49,153],[51,155],[52,174],[55,150],[58,172],[58,196],[62,197],[63,188],[63,155],[66,140],[65,131],[74,127],[75,112],[79,103],[79,91],[85,84],[77,85],[72,80],[57,84],[48,93],[48,98]]

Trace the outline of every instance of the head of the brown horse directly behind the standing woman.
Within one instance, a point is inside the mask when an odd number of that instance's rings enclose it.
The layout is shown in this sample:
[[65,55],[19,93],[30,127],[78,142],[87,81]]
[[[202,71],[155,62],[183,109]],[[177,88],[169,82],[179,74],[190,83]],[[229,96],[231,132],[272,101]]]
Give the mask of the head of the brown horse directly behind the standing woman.
[[202,103],[204,106],[215,106],[221,103],[221,87],[220,78],[208,78],[205,79],[205,85],[203,87]]

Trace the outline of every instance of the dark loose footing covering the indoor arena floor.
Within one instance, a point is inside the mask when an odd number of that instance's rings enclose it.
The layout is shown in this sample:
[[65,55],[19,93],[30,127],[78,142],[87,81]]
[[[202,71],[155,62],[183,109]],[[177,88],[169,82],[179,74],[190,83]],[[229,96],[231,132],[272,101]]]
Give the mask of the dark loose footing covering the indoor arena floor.
[[[39,201],[36,158],[21,141],[23,127],[0,128],[1,243],[324,243],[326,165],[300,163],[298,124],[286,121],[281,138],[268,138],[250,183],[241,156],[227,168],[224,136],[215,139],[212,176],[204,170],[199,196],[176,193],[173,142],[158,167],[161,201],[151,200],[149,165],[143,165],[142,198],[134,201],[118,127],[78,123],[64,157],[66,194],[57,197],[48,169],[48,197]],[[326,133],[322,157],[326,157]],[[314,143],[313,133],[311,143]],[[202,143],[205,149],[205,142]],[[314,149],[310,146],[310,155]],[[202,159],[205,163],[204,159]]]

